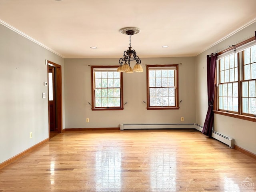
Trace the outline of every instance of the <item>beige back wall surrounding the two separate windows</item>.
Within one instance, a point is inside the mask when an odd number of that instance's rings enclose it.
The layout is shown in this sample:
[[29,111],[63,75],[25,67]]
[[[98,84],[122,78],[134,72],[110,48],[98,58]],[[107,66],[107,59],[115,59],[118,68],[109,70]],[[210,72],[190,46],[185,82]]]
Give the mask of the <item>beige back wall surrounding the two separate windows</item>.
[[[66,128],[116,128],[121,123],[195,123],[194,57],[141,58],[143,73],[123,75],[124,110],[92,111],[91,68],[88,65],[118,65],[112,59],[64,59]],[[179,65],[179,110],[147,110],[146,66],[144,64]],[[132,64],[133,67],[134,64]],[[180,122],[184,117],[184,122]],[[86,123],[86,118],[90,122]]]

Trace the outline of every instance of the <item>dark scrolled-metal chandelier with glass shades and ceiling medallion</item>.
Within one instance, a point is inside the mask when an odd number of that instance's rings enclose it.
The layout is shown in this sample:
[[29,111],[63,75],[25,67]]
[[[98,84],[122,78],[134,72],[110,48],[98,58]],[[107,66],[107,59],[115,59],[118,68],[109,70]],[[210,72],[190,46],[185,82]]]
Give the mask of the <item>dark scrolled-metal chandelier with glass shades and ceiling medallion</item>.
[[[131,36],[134,34],[137,34],[140,32],[138,28],[134,27],[125,27],[119,30],[122,34],[129,35],[130,36],[130,46],[128,47],[128,50],[124,51],[124,56],[119,59],[119,64],[120,66],[117,68],[118,72],[126,72],[126,73],[133,73],[135,72],[143,72],[143,68],[140,65],[141,60],[140,58],[136,55],[136,51],[131,47]],[[136,61],[137,63],[135,64],[133,70],[130,66],[130,61]]]

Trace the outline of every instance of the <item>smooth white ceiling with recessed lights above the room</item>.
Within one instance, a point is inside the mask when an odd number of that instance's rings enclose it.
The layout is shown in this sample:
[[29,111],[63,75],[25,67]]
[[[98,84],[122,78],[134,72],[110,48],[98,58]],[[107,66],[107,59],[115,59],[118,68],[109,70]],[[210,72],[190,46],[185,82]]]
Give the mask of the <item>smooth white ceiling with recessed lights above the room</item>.
[[123,27],[141,58],[196,56],[255,22],[256,0],[0,0],[0,20],[63,58],[122,57]]

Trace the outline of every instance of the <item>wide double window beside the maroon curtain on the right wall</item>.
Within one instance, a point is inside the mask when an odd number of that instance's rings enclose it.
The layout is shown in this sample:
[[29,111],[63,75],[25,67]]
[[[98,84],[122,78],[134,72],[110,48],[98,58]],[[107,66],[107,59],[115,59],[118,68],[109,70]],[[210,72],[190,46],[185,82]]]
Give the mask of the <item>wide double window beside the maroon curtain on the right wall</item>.
[[216,113],[256,121],[256,45],[250,42],[237,52],[217,60]]

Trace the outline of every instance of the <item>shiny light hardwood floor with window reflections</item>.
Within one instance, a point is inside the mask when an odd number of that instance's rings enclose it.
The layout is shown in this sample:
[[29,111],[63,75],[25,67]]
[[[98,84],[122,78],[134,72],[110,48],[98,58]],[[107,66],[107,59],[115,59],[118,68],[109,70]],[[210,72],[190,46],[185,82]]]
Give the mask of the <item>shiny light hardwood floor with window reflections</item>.
[[256,160],[198,131],[76,131],[0,169],[0,192],[256,191]]

